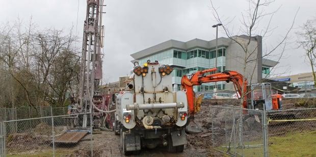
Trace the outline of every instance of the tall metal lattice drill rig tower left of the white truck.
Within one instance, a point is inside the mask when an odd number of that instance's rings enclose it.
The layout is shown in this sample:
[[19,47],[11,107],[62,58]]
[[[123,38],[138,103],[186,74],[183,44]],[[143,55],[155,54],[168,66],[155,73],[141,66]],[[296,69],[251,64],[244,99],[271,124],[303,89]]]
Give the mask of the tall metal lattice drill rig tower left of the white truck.
[[[93,124],[100,123],[100,116],[97,111],[94,112],[93,103],[103,104],[102,96],[98,91],[102,80],[103,6],[103,0],[87,0],[87,15],[83,33],[78,111],[92,112]],[[87,115],[84,115],[83,127],[87,127],[87,120]]]

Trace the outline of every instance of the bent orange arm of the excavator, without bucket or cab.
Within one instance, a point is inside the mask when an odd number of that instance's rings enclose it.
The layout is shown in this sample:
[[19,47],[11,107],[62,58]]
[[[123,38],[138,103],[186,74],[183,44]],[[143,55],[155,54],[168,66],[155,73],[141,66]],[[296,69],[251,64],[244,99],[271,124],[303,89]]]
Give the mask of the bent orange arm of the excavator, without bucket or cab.
[[186,90],[189,113],[190,117],[194,117],[194,114],[198,112],[197,109],[200,108],[200,102],[195,98],[195,93],[193,91],[193,86],[201,85],[208,82],[219,82],[226,81],[233,82],[234,88],[238,91],[239,95],[243,97],[243,108],[247,108],[247,80],[244,76],[235,71],[224,71],[222,73],[205,75],[208,72],[214,72],[217,68],[207,69],[203,71],[198,71],[191,75],[189,78],[187,75],[183,76],[181,79],[182,89]]

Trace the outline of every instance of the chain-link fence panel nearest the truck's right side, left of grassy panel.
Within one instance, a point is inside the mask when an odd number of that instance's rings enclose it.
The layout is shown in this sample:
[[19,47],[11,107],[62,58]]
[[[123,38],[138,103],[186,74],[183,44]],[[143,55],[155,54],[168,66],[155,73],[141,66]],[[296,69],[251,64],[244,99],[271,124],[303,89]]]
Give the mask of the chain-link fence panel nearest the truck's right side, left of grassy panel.
[[232,156],[264,154],[261,110],[212,106],[213,148]]

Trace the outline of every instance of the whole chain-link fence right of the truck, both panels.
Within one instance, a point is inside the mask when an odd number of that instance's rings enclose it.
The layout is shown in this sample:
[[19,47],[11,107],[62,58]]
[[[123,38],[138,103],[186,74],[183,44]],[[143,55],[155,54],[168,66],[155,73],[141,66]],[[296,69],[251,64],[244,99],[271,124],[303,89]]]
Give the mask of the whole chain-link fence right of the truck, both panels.
[[211,106],[213,149],[231,156],[316,155],[316,108]]

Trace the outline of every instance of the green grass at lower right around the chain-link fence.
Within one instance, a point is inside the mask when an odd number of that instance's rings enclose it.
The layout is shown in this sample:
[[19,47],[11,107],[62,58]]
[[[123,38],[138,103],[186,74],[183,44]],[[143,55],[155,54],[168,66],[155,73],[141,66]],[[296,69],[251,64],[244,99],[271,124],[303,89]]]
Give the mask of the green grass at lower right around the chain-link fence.
[[[245,142],[245,145],[262,144],[263,141]],[[227,148],[217,147],[224,152]],[[232,148],[231,148],[232,150]],[[244,156],[262,156],[264,147],[236,148]],[[232,152],[232,151],[231,151]],[[269,137],[270,156],[316,156],[316,131],[288,133],[283,136]]]

